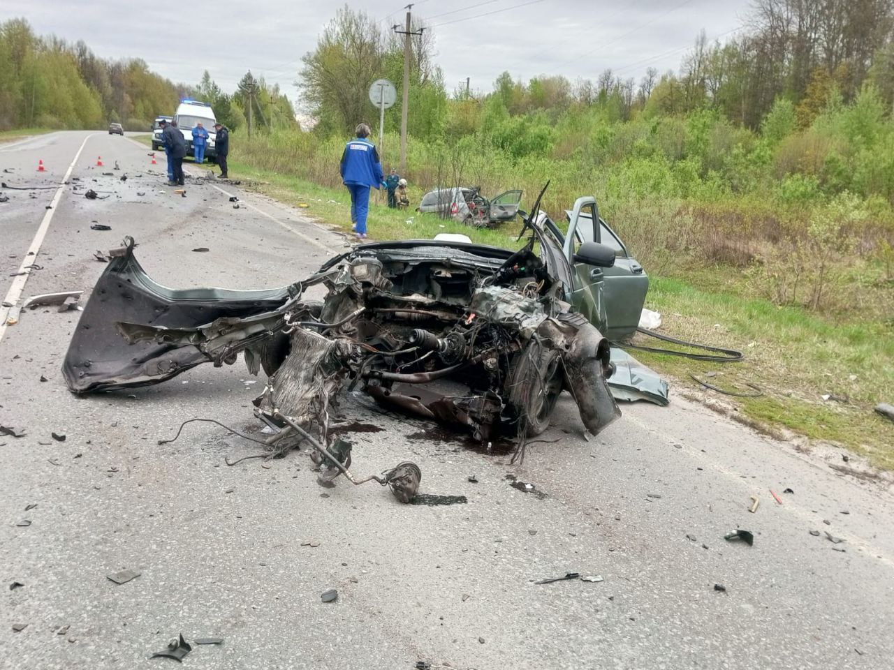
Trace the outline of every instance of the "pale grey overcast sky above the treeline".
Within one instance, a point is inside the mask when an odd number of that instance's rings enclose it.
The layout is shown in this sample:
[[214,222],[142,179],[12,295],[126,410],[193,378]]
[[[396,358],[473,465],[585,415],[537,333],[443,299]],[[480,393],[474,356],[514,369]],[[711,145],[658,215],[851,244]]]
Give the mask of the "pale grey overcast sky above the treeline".
[[[382,25],[402,22],[401,0],[354,0]],[[466,77],[489,91],[502,71],[596,79],[605,68],[637,80],[648,67],[677,70],[704,29],[731,37],[749,0],[420,0],[414,16],[434,32],[436,63],[448,91]],[[263,74],[299,102],[300,58],[333,18],[338,3],[307,0],[30,0],[18,15],[39,33],[83,39],[105,58],[139,57],[174,81],[198,83],[202,71],[227,91],[247,70]],[[459,10],[459,11],[457,11]],[[482,16],[481,14],[489,14]]]

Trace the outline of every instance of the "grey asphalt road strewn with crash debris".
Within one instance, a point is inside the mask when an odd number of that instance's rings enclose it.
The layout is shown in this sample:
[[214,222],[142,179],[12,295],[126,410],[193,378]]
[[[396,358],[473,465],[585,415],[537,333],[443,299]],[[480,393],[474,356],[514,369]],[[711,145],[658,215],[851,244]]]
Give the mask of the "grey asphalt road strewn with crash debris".
[[[237,186],[193,182],[176,196],[146,148],[105,133],[2,145],[0,175],[57,187],[82,145],[52,210],[53,188],[3,189],[0,295],[35,263],[22,297],[84,289],[86,300],[104,268],[93,252],[124,235],[156,281],[178,288],[283,285],[346,245]],[[78,184],[111,197],[88,200]],[[42,222],[46,237],[27,256]],[[375,483],[321,488],[301,453],[228,467],[224,456],[256,449],[211,424],[157,444],[191,417],[257,431],[249,403],[264,382],[241,363],[75,398],[60,364],[79,314],[26,310],[0,341],[0,423],[26,432],[0,435],[4,668],[170,666],[149,655],[179,632],[224,638],[195,646],[184,660],[192,668],[891,666],[894,499],[834,461],[676,394],[666,408],[622,406],[589,441],[562,398],[543,436],[556,441],[519,466],[364,396],[344,398],[345,415],[381,429],[351,435],[353,470],[409,459],[423,492],[468,497],[403,506]],[[507,474],[542,495],[511,488]],[[737,527],[754,532],[753,547],[723,539]],[[125,568],[141,574],[106,578]],[[533,583],[569,572],[603,581]],[[328,589],[338,600],[324,604]]]

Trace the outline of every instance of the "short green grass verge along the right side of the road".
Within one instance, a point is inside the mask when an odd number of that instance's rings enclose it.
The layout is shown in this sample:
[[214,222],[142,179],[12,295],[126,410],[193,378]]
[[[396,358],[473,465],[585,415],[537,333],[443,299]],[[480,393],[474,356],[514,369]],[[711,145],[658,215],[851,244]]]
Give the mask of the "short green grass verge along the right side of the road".
[[[149,136],[142,141],[148,143]],[[343,188],[327,188],[288,174],[230,162],[232,179],[242,187],[290,205],[350,235],[350,198]],[[418,202],[421,194],[413,194]],[[388,209],[370,203],[370,239],[432,238],[459,232],[474,241],[517,248],[519,223],[497,230],[471,229],[431,215]],[[646,268],[648,270],[648,268]],[[738,348],[740,364],[706,364],[678,356],[635,352],[645,364],[671,377],[682,389],[702,389],[689,378],[716,373],[710,381],[724,389],[748,391],[760,398],[721,397],[753,423],[782,427],[811,440],[839,444],[866,456],[875,466],[894,470],[894,423],[873,413],[879,402],[894,402],[894,323],[842,319],[801,307],[780,307],[754,297],[742,272],[724,265],[678,267],[674,276],[651,276],[646,305],[662,313],[662,331],[681,339]],[[637,338],[640,336],[637,336]],[[639,340],[637,340],[639,341]],[[654,345],[654,341],[641,341]],[[660,346],[660,345],[659,345]],[[854,379],[851,379],[851,377]],[[848,402],[824,401],[831,393]]]

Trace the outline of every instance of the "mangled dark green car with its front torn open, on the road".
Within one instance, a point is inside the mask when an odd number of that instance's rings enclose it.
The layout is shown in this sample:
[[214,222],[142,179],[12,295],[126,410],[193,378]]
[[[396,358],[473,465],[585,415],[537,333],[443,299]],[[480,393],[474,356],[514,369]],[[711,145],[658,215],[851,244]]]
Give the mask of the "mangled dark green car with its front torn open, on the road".
[[[242,354],[250,373],[268,377],[255,414],[276,431],[271,448],[306,440],[321,476],[355,483],[350,444],[331,430],[343,389],[482,442],[519,444],[547,428],[567,389],[596,434],[620,416],[605,333],[636,330],[648,278],[601,241],[603,227],[613,233],[595,198],[578,198],[566,232],[539,203],[520,213],[527,239],[514,252],[446,239],[371,243],[269,290],[166,289],[128,238],[81,315],[65,380],[78,394],[125,389]],[[322,304],[305,297],[317,284]],[[372,479],[409,499],[420,477],[401,464]]]

